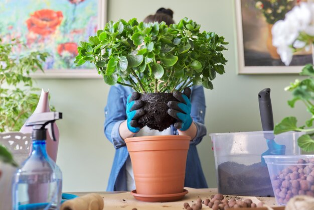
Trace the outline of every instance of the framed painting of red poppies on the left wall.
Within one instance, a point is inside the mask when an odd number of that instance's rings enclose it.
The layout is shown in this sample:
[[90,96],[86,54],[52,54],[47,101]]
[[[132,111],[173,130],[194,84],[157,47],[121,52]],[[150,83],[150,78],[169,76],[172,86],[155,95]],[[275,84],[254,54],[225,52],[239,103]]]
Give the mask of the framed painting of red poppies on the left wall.
[[101,78],[93,63],[77,67],[73,61],[80,41],[103,28],[107,0],[0,0],[0,37],[23,42],[17,54],[42,51],[50,54],[44,72],[35,78]]

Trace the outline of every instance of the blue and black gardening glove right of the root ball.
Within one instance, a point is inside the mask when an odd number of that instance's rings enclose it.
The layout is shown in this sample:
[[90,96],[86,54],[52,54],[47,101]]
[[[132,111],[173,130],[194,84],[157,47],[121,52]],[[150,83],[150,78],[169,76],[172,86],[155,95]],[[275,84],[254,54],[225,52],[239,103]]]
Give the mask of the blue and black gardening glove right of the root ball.
[[174,124],[176,129],[180,131],[186,131],[190,128],[193,119],[191,117],[191,89],[185,88],[183,93],[179,91],[175,91],[173,96],[177,98],[179,101],[169,101],[168,114],[173,118],[177,119],[177,122]]

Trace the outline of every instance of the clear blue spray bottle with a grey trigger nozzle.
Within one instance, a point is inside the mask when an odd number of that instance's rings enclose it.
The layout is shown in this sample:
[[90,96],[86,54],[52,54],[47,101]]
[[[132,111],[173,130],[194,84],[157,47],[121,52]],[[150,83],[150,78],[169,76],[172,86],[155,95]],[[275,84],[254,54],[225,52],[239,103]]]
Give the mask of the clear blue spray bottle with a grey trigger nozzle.
[[13,177],[13,209],[59,209],[62,194],[62,173],[46,151],[46,126],[62,119],[62,113],[47,112],[32,115],[26,126],[33,126],[31,155]]

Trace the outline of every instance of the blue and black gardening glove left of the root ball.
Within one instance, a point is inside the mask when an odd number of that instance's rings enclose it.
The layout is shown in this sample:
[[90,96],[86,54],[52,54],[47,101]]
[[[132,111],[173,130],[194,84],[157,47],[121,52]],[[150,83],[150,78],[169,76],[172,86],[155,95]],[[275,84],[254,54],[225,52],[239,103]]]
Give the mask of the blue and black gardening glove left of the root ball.
[[138,124],[138,118],[145,114],[141,109],[144,106],[144,102],[139,100],[140,93],[132,92],[129,94],[126,101],[126,117],[127,128],[133,133],[137,133],[143,126]]

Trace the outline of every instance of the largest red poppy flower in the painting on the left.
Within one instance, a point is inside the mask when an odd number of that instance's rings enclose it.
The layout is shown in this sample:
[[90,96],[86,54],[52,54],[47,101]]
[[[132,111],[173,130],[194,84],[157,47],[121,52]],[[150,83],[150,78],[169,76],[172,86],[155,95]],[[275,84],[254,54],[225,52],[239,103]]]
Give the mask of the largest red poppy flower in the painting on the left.
[[56,31],[62,19],[63,15],[61,11],[43,9],[35,11],[34,14],[26,20],[26,24],[30,32],[47,36]]

